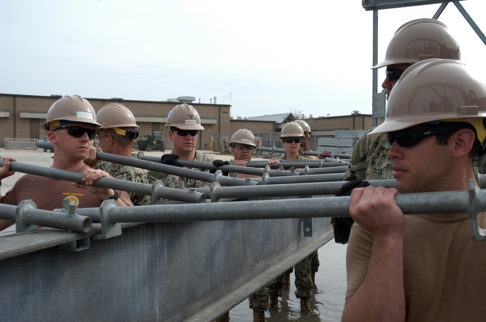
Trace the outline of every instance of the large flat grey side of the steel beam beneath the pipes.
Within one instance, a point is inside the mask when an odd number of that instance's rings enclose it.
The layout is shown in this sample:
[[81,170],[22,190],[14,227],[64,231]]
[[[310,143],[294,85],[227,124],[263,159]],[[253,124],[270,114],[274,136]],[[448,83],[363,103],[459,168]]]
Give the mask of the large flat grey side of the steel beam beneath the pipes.
[[261,274],[292,255],[300,260],[306,254],[299,249],[329,235],[328,218],[312,220],[312,238],[303,237],[301,225],[301,219],[148,223],[91,240],[82,252],[52,247],[5,258],[0,321],[194,319],[260,274],[248,292],[257,290],[275,277]]

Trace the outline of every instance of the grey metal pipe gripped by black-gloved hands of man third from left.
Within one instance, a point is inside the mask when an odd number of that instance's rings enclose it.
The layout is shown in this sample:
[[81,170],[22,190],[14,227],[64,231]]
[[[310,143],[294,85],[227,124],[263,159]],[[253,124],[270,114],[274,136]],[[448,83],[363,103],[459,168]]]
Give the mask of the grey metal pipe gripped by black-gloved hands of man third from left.
[[[142,152],[137,153],[137,158],[139,160],[160,163],[159,157],[146,156]],[[245,175],[262,176],[266,172],[270,177],[298,176],[298,174],[295,172],[287,172],[287,171],[284,172],[280,170],[264,170],[264,169],[256,169],[254,167],[242,167],[242,166],[231,165],[231,164],[230,165],[225,164],[216,167],[211,162],[187,161],[187,160],[180,160],[180,159],[177,159],[176,161],[177,163],[179,163],[184,167],[207,169],[207,170],[221,170],[225,172],[243,173]]]

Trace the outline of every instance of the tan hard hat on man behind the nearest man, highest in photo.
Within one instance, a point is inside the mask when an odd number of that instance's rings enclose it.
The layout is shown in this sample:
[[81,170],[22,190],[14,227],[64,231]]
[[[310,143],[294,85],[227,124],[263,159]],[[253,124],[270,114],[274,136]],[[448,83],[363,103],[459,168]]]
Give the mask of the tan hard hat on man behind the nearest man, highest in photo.
[[424,59],[461,59],[459,43],[440,21],[422,18],[403,24],[386,48],[385,59],[372,67],[415,64]]

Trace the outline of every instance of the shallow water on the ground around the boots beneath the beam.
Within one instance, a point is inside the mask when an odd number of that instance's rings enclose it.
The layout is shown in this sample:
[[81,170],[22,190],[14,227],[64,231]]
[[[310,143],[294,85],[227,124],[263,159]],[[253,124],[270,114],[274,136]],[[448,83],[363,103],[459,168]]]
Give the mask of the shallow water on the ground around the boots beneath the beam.
[[[290,289],[282,290],[278,310],[265,312],[268,322],[339,322],[344,308],[346,293],[346,248],[331,240],[319,249],[319,271],[315,274],[315,284],[321,292],[310,299],[314,316],[300,314],[300,302],[295,297],[295,275],[291,274]],[[248,300],[229,311],[231,322],[253,321],[253,311],[248,308]]]

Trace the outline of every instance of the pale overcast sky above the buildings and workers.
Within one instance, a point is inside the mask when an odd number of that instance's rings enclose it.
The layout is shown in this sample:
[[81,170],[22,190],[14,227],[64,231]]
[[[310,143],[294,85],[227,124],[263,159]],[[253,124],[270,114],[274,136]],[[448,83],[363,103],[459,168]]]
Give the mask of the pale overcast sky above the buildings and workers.
[[[460,3],[486,33],[486,1]],[[381,10],[378,61],[399,26],[438,8]],[[439,20],[486,75],[486,46],[453,3]],[[372,29],[361,0],[2,0],[0,93],[216,96],[235,117],[371,113]]]

